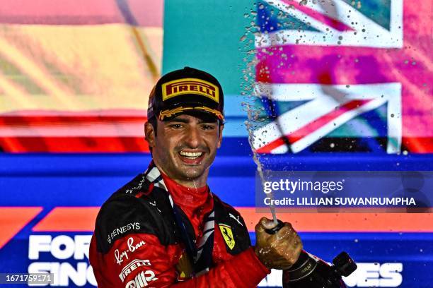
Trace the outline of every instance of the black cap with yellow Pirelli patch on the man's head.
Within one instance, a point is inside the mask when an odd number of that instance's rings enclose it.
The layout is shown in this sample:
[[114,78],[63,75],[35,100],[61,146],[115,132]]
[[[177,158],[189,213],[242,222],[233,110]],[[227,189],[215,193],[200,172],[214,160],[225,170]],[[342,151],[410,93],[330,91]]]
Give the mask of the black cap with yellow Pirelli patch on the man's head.
[[185,67],[158,80],[149,96],[147,118],[164,120],[187,112],[204,112],[224,121],[224,95],[217,78]]

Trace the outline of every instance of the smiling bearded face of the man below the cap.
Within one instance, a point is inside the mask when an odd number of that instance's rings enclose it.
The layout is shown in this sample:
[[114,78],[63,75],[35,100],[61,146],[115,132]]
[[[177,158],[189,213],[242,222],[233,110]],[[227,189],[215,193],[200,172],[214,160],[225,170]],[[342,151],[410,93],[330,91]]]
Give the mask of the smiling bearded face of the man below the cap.
[[157,123],[157,133],[146,124],[146,140],[156,166],[179,184],[206,185],[209,167],[221,146],[223,125],[209,116],[180,114]]

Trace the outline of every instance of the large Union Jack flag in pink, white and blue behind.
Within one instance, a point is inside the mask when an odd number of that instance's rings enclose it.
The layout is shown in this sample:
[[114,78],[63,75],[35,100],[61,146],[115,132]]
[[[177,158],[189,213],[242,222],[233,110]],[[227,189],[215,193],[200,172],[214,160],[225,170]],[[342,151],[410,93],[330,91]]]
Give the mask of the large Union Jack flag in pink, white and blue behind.
[[431,8],[260,1],[255,150],[433,152]]

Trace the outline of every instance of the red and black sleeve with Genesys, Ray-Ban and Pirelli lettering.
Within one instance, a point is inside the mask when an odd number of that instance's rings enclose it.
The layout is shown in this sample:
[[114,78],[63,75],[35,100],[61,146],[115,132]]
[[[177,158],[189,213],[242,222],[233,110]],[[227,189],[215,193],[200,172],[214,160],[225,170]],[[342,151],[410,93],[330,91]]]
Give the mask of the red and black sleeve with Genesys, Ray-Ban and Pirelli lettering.
[[175,282],[181,249],[161,244],[161,222],[134,197],[103,205],[89,259],[98,287],[167,287]]

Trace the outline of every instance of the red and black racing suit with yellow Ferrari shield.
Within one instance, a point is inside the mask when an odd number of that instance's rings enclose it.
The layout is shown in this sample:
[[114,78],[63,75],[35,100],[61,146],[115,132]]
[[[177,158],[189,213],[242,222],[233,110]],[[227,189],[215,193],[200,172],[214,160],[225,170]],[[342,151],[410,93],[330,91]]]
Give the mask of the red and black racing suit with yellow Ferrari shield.
[[[173,205],[180,208],[183,230]],[[195,274],[185,231],[196,246],[206,241],[200,259],[210,249],[207,270]],[[256,287],[270,272],[234,208],[207,186],[176,184],[153,164],[103,204],[89,255],[98,287]]]

